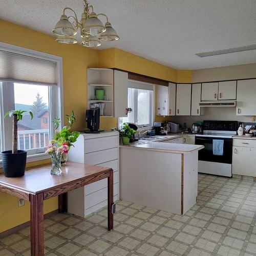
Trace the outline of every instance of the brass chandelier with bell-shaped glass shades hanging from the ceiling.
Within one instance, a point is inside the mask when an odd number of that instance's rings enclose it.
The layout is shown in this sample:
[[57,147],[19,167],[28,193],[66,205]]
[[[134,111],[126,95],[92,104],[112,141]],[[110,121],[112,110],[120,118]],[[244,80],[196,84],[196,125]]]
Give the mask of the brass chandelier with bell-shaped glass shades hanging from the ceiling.
[[[67,16],[66,12],[71,11],[73,15]],[[104,16],[105,25],[98,18]],[[72,23],[71,23],[71,21]],[[63,44],[77,44],[74,37],[80,29],[82,38],[81,45],[86,47],[97,47],[101,45],[101,41],[118,40],[119,36],[112,28],[108,17],[104,13],[96,14],[93,6],[89,5],[87,0],[83,0],[83,13],[80,22],[78,21],[75,11],[69,7],[63,9],[63,14],[57,22],[52,33],[57,36],[56,41]]]

